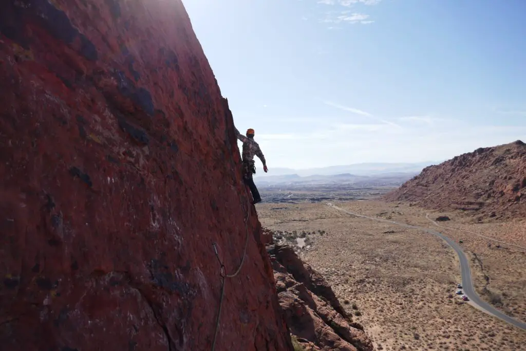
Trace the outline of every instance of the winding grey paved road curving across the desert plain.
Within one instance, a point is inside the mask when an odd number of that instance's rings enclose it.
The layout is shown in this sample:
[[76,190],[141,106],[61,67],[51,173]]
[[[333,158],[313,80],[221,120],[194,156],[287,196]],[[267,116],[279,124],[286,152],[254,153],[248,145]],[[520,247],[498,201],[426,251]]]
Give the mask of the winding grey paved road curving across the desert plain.
[[409,224],[406,224],[406,223],[398,223],[398,222],[395,222],[394,220],[387,220],[387,219],[369,217],[369,216],[364,216],[364,215],[360,215],[360,214],[357,214],[357,213],[352,213],[352,212],[350,212],[350,211],[348,211],[346,209],[343,209],[341,207],[333,205],[332,203],[327,203],[327,205],[331,206],[333,208],[336,208],[337,210],[340,210],[341,212],[347,213],[347,214],[349,214],[351,216],[367,218],[367,219],[376,220],[378,222],[383,222],[383,223],[397,224],[399,226],[406,227],[406,228],[423,230],[424,232],[427,232],[429,234],[433,234],[433,235],[438,236],[439,238],[444,240],[444,242],[446,242],[451,248],[453,248],[453,250],[455,250],[455,252],[457,253],[457,256],[459,257],[459,261],[460,261],[460,273],[462,275],[462,288],[464,290],[464,294],[466,294],[468,296],[468,298],[471,300],[471,302],[474,305],[476,305],[476,307],[479,308],[480,310],[482,310],[483,312],[485,312],[485,313],[487,313],[487,314],[489,314],[491,316],[495,316],[495,317],[497,317],[499,319],[502,319],[502,320],[504,320],[504,322],[512,324],[515,327],[518,327],[518,328],[521,328],[523,330],[526,330],[526,323],[520,322],[519,320],[514,319],[514,318],[512,318],[512,317],[510,317],[508,315],[505,315],[504,313],[500,312],[498,309],[494,308],[489,303],[485,302],[475,292],[475,288],[473,287],[473,280],[471,278],[471,270],[469,268],[468,257],[466,256],[466,254],[464,254],[464,252],[462,251],[462,248],[460,247],[460,245],[455,243],[453,240],[451,240],[447,236],[445,236],[442,233],[439,233],[439,232],[437,232],[436,230],[433,230],[433,229],[424,228],[424,227],[418,227],[418,226],[409,225]]

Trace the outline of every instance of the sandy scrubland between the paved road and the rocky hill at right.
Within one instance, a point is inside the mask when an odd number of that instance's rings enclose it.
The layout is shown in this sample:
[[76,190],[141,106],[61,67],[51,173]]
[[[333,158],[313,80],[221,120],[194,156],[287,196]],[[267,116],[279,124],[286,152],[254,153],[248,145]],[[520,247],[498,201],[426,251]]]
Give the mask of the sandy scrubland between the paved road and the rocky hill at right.
[[[406,204],[349,202],[345,208],[420,226],[431,226],[457,241],[471,256],[474,285],[480,295],[508,315],[526,322],[526,220],[477,224],[461,212],[442,213]],[[451,220],[433,225],[429,218]],[[486,277],[486,278],[485,278]]]

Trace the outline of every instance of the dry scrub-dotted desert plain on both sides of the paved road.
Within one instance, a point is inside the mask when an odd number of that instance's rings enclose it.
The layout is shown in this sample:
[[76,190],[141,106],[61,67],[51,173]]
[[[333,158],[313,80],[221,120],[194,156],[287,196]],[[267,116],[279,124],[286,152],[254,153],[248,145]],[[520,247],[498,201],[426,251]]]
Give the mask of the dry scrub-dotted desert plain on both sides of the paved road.
[[[426,219],[426,210],[408,205],[376,201],[335,204],[352,212],[433,226]],[[291,245],[297,244],[296,236],[306,237],[309,245],[298,248],[300,256],[326,277],[377,349],[526,350],[526,332],[454,295],[460,280],[459,264],[453,250],[440,239],[414,229],[353,218],[322,203],[261,204],[257,209],[261,224],[278,236],[287,232]],[[430,218],[438,215],[432,213]],[[452,220],[440,225],[458,225],[473,232],[484,226],[484,235],[521,244],[521,236],[511,233],[524,228],[520,223],[470,224],[469,219],[449,215]],[[503,234],[502,228],[510,233]],[[291,234],[294,231],[296,234]],[[505,248],[504,244],[488,247],[488,239],[453,229],[440,231],[462,238],[466,252],[473,252],[476,286],[481,290],[485,286],[493,298],[500,294],[497,297],[503,310],[526,319],[526,262],[521,249]],[[489,284],[484,276],[489,276]]]

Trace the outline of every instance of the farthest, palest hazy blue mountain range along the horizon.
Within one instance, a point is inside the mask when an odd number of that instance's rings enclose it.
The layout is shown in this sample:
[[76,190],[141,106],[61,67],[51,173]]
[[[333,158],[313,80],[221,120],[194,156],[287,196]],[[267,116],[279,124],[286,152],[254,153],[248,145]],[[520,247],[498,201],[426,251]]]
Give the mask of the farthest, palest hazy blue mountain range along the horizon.
[[[271,177],[286,176],[290,179],[295,177],[309,176],[335,176],[335,175],[353,175],[353,176],[371,176],[386,173],[420,173],[423,168],[440,162],[418,162],[418,163],[356,163],[343,166],[329,166],[321,168],[292,169],[292,168],[270,168],[269,173],[264,173],[261,167],[258,167],[254,176],[258,180],[270,180]],[[268,178],[268,179],[267,179]]]

